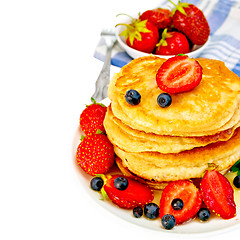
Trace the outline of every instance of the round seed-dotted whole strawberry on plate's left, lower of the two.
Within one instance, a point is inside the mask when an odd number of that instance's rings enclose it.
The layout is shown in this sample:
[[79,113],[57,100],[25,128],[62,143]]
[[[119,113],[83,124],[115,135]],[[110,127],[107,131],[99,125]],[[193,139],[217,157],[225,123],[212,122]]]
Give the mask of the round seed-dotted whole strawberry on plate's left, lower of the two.
[[104,134],[92,134],[83,138],[78,145],[76,159],[88,174],[104,174],[114,163],[113,145]]

